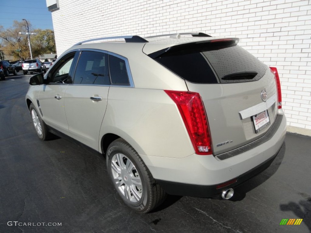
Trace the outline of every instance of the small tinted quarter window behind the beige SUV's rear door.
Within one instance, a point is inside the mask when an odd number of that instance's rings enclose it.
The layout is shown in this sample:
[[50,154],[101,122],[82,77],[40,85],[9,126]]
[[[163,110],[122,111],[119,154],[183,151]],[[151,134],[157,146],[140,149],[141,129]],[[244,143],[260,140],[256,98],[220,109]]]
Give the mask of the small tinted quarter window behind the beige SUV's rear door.
[[129,86],[128,71],[123,59],[109,55],[111,84]]

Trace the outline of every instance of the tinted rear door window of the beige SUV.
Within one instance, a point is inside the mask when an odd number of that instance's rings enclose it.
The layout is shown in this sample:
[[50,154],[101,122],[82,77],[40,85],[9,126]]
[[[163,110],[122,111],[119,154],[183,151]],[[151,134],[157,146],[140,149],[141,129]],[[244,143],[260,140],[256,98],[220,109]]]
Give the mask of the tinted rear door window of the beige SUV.
[[108,70],[108,54],[81,52],[73,84],[110,85]]

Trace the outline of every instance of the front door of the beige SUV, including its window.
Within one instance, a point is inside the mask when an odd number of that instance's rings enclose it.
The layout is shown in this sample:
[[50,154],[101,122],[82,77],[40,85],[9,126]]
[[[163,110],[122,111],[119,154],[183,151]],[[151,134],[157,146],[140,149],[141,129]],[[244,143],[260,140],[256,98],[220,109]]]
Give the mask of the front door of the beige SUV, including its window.
[[39,105],[44,122],[54,129],[70,135],[65,115],[64,95],[68,84],[72,83],[71,72],[76,52],[65,55],[47,74],[48,84],[42,85]]

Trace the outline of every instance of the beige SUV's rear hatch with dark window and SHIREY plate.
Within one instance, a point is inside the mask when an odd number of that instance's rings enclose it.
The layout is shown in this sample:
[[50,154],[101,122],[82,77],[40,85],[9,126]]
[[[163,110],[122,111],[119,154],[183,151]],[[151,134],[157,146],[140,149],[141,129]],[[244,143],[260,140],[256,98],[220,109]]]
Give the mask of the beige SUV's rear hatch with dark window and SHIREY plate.
[[149,54],[201,95],[214,155],[267,133],[277,114],[277,88],[269,67],[235,39],[179,44]]

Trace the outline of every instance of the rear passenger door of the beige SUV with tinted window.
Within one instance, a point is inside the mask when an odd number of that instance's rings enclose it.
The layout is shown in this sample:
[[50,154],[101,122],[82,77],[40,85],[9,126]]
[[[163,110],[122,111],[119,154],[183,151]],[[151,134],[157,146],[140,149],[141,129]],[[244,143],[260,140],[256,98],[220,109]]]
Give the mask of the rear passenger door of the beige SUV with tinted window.
[[95,150],[109,85],[108,54],[100,50],[80,51],[73,84],[65,92],[65,112],[71,136]]

